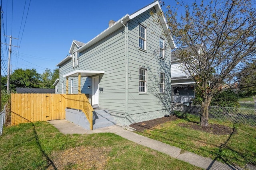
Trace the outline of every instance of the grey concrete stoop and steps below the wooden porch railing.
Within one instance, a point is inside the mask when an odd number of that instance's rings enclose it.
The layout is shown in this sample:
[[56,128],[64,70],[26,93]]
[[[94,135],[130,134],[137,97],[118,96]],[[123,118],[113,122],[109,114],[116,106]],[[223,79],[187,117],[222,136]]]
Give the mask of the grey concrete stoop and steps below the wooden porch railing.
[[[66,109],[66,120],[90,130],[90,123],[82,111],[78,111],[76,109]],[[108,113],[108,111],[94,109],[93,129],[108,127],[115,124],[116,121],[112,115]]]

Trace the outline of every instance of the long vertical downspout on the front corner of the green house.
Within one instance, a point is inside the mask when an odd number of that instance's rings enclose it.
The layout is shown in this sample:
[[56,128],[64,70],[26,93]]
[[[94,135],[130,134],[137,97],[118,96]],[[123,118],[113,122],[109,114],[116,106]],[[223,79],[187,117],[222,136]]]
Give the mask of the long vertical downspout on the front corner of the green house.
[[127,125],[127,116],[128,116],[128,23],[124,25],[123,21],[121,21],[121,24],[124,26],[124,41],[125,41],[125,125]]

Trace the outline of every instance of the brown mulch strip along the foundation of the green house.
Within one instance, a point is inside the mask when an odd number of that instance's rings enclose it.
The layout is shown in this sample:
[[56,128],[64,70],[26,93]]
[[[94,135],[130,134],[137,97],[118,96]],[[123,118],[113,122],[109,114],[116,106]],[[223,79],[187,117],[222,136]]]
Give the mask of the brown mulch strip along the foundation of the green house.
[[142,121],[142,122],[139,122],[139,123],[134,123],[134,124],[129,125],[129,126],[136,129],[136,131],[143,132],[144,130],[152,129],[153,127],[155,127],[157,125],[166,123],[168,121],[174,121],[176,119],[179,119],[179,118],[176,117],[175,115],[173,115],[173,116],[171,115],[169,117],[160,117],[158,119],[152,119],[152,120],[149,120],[149,121]]

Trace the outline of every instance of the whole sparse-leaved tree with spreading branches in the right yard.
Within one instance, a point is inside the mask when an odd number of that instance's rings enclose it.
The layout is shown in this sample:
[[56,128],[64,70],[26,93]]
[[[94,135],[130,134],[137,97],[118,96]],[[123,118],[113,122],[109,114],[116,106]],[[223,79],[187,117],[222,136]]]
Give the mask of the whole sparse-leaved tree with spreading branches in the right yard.
[[[178,59],[183,70],[195,80],[197,93],[203,99],[200,125],[208,125],[208,106],[222,82],[255,57],[254,6],[255,2],[250,0],[202,0],[200,4],[176,1],[174,7],[167,6],[164,15],[179,48]],[[202,45],[199,52],[198,45]],[[185,47],[191,50],[182,50]]]

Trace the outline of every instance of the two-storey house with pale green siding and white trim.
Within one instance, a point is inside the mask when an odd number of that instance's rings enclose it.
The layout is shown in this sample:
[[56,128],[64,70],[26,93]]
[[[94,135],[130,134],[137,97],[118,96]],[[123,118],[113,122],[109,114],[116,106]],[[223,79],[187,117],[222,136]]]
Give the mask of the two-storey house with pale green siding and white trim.
[[87,43],[74,40],[70,55],[56,65],[58,93],[86,94],[95,111],[103,110],[121,125],[169,114],[156,94],[166,95],[167,76],[159,63],[170,62],[175,44],[165,18],[152,15],[160,11],[155,1],[111,20]]

